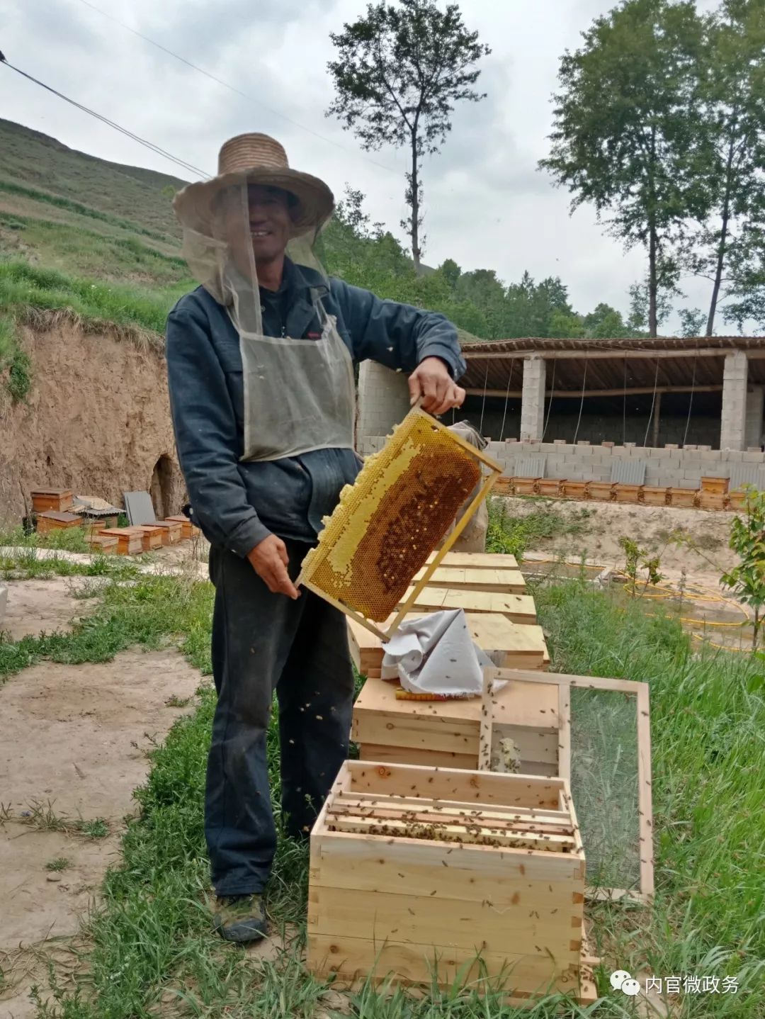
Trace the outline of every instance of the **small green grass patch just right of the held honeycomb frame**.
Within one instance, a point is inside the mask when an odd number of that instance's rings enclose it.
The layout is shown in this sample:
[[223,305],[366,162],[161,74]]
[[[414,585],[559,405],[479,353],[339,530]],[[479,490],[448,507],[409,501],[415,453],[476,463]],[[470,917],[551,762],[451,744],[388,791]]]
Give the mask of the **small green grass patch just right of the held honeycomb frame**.
[[513,513],[506,499],[493,497],[488,501],[489,529],[486,535],[487,552],[503,552],[523,558],[529,546],[564,536],[578,537],[590,530],[592,516],[589,509],[561,514],[551,499],[528,499],[533,503],[528,513]]

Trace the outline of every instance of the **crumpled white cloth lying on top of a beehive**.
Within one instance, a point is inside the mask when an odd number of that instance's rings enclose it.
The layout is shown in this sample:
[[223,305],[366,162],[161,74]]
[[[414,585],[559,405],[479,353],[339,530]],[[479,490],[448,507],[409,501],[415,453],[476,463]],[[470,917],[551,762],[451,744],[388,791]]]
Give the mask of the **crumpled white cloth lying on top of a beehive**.
[[492,664],[473,641],[461,608],[402,623],[384,648],[380,675],[413,694],[480,697],[482,671]]

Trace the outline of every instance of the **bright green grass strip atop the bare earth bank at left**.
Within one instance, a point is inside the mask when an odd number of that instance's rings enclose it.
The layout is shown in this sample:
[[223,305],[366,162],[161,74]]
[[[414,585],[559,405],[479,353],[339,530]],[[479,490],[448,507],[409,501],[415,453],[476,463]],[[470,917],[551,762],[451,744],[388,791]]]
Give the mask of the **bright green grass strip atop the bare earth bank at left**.
[[144,289],[93,282],[21,261],[0,262],[0,313],[68,311],[86,323],[132,326],[148,334],[147,341],[154,337],[159,343],[168,311],[190,285],[185,281]]

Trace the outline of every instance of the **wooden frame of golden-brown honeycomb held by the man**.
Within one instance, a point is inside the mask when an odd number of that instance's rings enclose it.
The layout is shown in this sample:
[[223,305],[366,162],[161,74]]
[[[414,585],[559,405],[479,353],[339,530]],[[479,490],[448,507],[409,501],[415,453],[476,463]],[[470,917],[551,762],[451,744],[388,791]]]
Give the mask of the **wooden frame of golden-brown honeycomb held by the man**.
[[[296,584],[387,640],[500,474],[499,464],[413,408],[383,448],[367,458],[354,484],[340,492]],[[478,485],[454,530],[428,561]],[[385,631],[375,625],[394,612]]]

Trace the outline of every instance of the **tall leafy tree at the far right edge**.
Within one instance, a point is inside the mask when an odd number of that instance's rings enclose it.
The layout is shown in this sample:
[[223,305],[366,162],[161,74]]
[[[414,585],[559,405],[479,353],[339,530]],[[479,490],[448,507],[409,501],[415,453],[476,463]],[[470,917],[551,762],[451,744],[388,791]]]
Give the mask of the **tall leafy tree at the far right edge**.
[[710,190],[711,215],[690,238],[686,262],[712,283],[706,319],[706,334],[711,336],[720,303],[746,289],[742,282],[751,280],[752,263],[756,266],[761,255],[765,5],[762,0],[722,0],[707,30],[701,95],[709,151],[701,172]]

